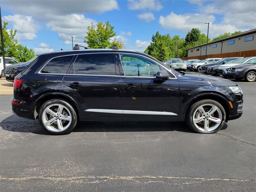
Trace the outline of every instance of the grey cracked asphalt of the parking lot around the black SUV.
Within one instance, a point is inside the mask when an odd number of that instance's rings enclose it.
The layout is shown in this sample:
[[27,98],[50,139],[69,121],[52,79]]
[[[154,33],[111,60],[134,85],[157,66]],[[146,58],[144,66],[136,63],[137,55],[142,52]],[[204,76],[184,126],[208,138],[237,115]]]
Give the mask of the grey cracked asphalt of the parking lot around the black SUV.
[[256,191],[256,83],[216,134],[183,122],[87,122],[64,136],[0,96],[0,191]]

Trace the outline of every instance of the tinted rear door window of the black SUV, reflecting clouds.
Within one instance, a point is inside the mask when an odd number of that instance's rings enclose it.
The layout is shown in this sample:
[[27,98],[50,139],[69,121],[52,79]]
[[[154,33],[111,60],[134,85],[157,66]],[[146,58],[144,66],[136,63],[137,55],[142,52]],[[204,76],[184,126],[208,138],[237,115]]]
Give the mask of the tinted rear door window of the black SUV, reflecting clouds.
[[74,74],[116,75],[114,53],[80,54],[74,62]]

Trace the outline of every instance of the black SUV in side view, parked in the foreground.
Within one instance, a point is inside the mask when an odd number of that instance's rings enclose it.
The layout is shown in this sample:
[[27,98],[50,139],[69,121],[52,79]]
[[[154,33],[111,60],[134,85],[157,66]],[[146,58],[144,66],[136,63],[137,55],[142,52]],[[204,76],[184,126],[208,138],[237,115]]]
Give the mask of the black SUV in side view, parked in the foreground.
[[41,54],[14,80],[14,114],[52,134],[81,121],[186,121],[215,133],[242,115],[235,82],[176,72],[142,52],[70,50]]

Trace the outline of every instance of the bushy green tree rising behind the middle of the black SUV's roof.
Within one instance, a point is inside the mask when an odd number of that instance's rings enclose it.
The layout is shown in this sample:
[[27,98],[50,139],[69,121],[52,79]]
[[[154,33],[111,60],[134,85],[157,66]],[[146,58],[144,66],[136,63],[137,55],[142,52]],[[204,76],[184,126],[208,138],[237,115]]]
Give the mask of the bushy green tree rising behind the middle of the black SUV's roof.
[[108,21],[105,24],[97,23],[97,29],[92,23],[87,29],[84,42],[88,44],[89,48],[112,48],[114,44],[117,44],[120,49],[124,48],[124,43],[114,38],[116,36],[116,32],[113,30],[114,26],[110,25]]

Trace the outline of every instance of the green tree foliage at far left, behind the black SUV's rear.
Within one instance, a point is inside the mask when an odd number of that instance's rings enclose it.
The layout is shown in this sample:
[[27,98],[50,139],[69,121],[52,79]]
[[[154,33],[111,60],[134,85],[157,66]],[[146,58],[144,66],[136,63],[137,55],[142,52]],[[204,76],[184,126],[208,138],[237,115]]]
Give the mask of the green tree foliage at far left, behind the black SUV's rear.
[[[3,38],[4,38],[4,54],[6,57],[15,58],[18,62],[26,62],[35,56],[34,50],[22,46],[15,39],[17,30],[9,30],[8,22],[4,22]],[[0,55],[2,56],[2,46],[0,44]]]

